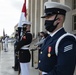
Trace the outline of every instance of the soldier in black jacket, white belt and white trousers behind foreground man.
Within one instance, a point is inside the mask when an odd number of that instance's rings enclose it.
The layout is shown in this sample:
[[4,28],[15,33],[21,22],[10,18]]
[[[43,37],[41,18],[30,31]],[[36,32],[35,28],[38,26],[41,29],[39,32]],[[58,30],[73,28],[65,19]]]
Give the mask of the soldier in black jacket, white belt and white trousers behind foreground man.
[[22,27],[22,37],[17,44],[16,50],[19,50],[19,62],[21,75],[29,75],[29,62],[31,59],[29,46],[32,42],[32,34],[30,33],[30,22],[26,22]]

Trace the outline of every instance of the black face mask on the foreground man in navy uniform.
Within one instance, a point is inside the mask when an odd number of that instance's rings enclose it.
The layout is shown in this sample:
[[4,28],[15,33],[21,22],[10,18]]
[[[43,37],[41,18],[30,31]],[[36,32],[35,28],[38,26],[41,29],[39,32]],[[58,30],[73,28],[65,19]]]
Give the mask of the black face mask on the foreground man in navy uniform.
[[[56,17],[57,17],[57,15],[56,15]],[[56,17],[54,20],[45,20],[45,29],[47,31],[53,32],[56,29],[57,25],[59,24],[59,23],[57,23],[56,25],[54,25],[54,22],[56,20],[58,20],[58,19],[56,19]]]

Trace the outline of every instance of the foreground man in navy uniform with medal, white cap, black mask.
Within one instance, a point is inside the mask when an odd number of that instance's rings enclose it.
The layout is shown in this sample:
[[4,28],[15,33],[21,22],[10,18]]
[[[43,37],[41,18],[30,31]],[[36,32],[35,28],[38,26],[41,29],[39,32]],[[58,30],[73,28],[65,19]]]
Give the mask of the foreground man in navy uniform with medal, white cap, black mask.
[[76,63],[76,37],[63,28],[70,7],[57,2],[45,2],[45,39],[39,60],[42,75],[73,75]]

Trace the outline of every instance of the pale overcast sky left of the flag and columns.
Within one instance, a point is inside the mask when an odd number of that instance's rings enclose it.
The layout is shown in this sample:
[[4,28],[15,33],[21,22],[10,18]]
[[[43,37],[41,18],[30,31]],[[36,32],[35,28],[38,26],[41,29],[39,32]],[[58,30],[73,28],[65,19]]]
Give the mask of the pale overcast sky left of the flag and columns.
[[14,26],[19,22],[24,0],[0,0],[0,36],[3,28],[7,35],[14,32]]

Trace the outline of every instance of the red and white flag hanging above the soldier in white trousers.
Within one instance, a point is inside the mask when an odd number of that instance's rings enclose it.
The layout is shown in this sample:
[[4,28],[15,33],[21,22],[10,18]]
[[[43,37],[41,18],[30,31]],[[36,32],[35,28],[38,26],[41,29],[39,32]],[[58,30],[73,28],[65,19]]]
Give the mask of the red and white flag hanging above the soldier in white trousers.
[[26,15],[27,14],[26,14],[26,0],[25,0],[22,7],[22,12],[18,23],[18,27],[22,27],[22,25],[26,22]]

